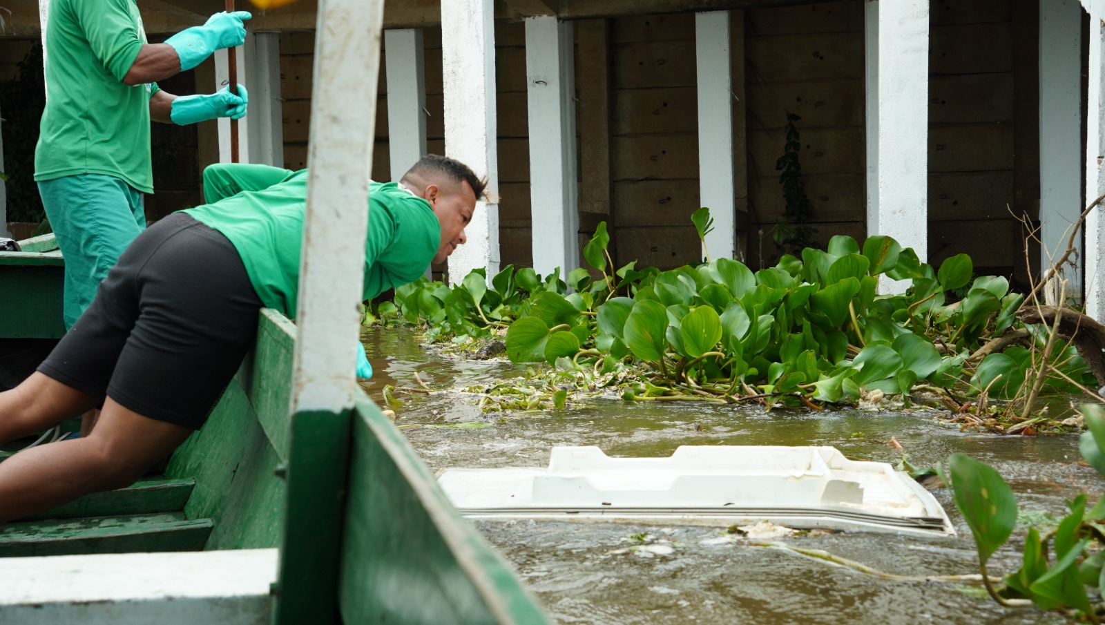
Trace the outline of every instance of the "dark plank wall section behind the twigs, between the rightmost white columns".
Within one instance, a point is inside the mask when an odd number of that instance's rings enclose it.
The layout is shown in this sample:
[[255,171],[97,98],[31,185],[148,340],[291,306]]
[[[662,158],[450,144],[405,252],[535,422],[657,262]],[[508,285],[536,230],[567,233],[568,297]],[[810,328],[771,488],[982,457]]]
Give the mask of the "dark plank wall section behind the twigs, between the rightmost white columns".
[[1039,6],[934,0],[930,10],[929,262],[968,253],[977,273],[1024,282],[1007,206],[1039,215]]

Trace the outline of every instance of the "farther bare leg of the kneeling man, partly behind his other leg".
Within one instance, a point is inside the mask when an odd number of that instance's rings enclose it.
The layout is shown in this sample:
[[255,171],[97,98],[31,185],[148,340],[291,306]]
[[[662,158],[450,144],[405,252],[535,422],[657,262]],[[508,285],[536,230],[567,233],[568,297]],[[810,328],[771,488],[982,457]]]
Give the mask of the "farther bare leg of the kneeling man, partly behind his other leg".
[[35,371],[0,393],[0,443],[42,432],[96,405],[96,398]]

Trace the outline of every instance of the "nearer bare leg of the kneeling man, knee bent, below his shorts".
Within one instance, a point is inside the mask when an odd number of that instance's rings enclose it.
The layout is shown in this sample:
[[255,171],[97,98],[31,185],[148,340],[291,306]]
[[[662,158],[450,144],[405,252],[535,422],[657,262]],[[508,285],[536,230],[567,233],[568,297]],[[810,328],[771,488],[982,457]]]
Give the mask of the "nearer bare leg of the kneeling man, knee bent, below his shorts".
[[87,438],[41,445],[0,463],[0,523],[90,492],[125,488],[191,433],[108,398]]

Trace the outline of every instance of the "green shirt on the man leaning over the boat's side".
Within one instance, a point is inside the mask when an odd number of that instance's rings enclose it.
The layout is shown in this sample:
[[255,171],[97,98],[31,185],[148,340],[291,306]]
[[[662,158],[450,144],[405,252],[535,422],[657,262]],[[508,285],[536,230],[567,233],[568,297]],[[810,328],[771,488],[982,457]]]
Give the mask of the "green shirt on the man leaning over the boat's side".
[[[183,212],[229,239],[261,301],[294,317],[307,170],[212,165],[203,171],[203,197],[207,204]],[[430,203],[394,182],[372,182],[368,206],[364,299],[422,276],[441,241]]]

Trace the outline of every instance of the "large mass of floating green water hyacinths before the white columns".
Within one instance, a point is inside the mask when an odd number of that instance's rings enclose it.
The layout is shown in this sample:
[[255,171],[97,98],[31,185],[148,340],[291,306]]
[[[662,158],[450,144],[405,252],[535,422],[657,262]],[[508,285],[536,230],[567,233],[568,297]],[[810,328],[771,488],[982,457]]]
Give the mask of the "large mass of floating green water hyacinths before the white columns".
[[[695,218],[704,237],[708,211]],[[599,395],[767,410],[892,401],[965,428],[1035,434],[1080,425],[1038,411],[1040,396],[1093,395],[1098,384],[1057,317],[1025,306],[1004,277],[974,277],[964,254],[937,271],[888,236],[862,246],[833,236],[828,250],[806,247],[755,273],[729,258],[661,272],[635,262],[615,269],[609,243],[601,223],[583,250],[593,272],[562,278],[514,266],[490,280],[476,269],[455,287],[423,278],[368,322],[420,326],[445,354],[527,366],[519,378],[462,390],[486,411]],[[911,286],[880,295],[887,279]]]

